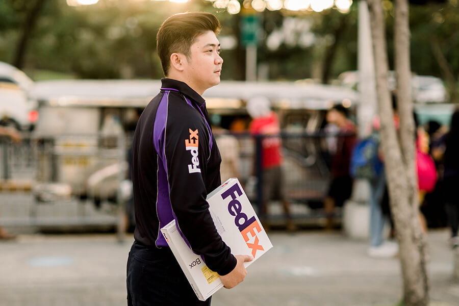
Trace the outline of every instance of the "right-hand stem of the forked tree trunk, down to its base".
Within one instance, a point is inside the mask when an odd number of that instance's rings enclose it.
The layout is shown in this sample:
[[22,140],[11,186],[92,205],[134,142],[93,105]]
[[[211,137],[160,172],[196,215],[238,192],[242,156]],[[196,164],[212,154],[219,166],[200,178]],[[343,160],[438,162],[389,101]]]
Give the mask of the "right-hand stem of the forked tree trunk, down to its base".
[[[427,305],[428,278],[425,262],[426,239],[419,221],[418,180],[416,173],[416,131],[413,118],[410,65],[410,26],[408,0],[395,1],[395,72],[397,80],[397,109],[400,115],[400,142],[406,174],[407,205],[411,205],[410,219],[400,212],[396,224],[400,228],[400,261],[404,283],[404,301],[407,305]],[[394,218],[396,218],[394,216]],[[404,223],[404,222],[408,223]],[[396,225],[397,226],[397,225]],[[398,231],[398,227],[397,227]]]

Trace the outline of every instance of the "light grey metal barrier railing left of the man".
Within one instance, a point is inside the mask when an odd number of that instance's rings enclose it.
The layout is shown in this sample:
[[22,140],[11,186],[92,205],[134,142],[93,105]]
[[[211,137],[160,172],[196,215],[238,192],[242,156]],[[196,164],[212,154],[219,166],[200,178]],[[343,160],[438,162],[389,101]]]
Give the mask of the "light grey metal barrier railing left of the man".
[[2,143],[0,225],[115,226],[124,233],[124,135],[24,136]]

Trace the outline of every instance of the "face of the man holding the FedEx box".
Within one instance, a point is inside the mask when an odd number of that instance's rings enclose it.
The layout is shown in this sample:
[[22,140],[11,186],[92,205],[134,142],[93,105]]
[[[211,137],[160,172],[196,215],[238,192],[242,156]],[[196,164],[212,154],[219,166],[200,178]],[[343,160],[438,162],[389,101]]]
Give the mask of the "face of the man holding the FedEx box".
[[186,83],[202,94],[206,89],[220,83],[222,63],[220,42],[215,33],[208,31],[199,35],[191,45],[190,57],[184,63]]

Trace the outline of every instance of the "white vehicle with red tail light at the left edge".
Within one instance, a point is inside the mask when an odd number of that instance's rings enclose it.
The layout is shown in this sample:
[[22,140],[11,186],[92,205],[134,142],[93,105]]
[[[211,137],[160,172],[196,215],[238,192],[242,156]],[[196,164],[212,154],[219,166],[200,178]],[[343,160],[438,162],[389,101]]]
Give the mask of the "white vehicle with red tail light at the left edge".
[[38,119],[34,82],[21,70],[0,62],[0,125],[31,131]]

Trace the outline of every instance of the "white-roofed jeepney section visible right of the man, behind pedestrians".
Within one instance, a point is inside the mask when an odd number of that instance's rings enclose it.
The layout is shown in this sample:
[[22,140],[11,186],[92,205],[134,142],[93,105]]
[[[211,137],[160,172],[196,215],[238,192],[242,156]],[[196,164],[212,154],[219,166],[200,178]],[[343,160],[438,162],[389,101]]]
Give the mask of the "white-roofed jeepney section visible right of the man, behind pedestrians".
[[[307,203],[309,207],[322,206],[329,183],[330,143],[335,135],[324,133],[326,112],[336,104],[349,108],[355,114],[359,103],[358,92],[340,86],[297,82],[221,82],[203,95],[209,114],[218,115],[224,127],[231,129],[234,120],[251,120],[246,103],[253,97],[269,99],[271,108],[281,123],[283,143],[285,191],[290,201]],[[238,129],[238,128],[236,128]],[[248,132],[235,131],[240,143],[240,181],[245,183],[247,195],[257,199],[256,145]],[[333,153],[333,152],[331,152]]]

